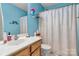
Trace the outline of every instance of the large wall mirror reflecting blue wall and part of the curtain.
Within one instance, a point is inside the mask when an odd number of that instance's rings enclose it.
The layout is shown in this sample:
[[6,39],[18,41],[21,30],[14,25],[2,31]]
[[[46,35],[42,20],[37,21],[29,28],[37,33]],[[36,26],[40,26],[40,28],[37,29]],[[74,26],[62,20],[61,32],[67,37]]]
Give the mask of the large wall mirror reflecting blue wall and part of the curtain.
[[[3,15],[3,23],[0,19],[0,36],[2,35],[2,24],[3,24],[3,33],[4,37],[6,35],[18,35],[26,33],[26,16],[27,12],[22,8],[27,8],[24,3],[1,3],[2,7],[2,15]],[[23,7],[24,6],[24,7]],[[1,14],[1,13],[0,13]],[[0,18],[2,18],[0,15]],[[26,20],[25,20],[26,19]],[[21,21],[24,20],[24,21]],[[23,33],[22,30],[24,31]],[[0,39],[2,39],[0,37]],[[5,38],[4,38],[5,39]]]

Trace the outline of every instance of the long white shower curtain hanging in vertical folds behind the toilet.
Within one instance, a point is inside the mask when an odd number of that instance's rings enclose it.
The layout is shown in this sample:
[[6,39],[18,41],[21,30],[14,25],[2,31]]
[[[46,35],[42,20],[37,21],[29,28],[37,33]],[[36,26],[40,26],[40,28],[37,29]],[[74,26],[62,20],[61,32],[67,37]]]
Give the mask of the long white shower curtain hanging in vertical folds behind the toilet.
[[51,46],[54,55],[77,55],[75,5],[39,14],[42,42]]

